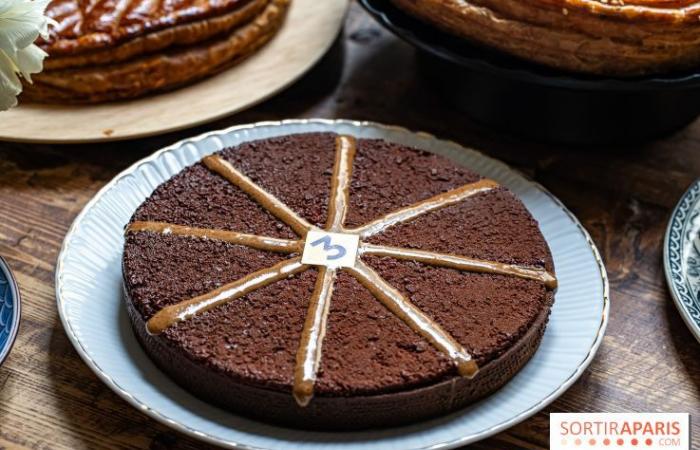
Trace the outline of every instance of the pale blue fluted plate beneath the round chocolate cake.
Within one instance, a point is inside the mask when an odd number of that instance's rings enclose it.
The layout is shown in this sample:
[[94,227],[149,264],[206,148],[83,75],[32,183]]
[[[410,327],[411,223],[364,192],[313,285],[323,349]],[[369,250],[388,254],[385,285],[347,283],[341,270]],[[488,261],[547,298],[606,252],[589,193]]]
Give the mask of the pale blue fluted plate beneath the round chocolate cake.
[[[185,166],[224,147],[271,136],[333,131],[382,138],[449,157],[515,192],[539,221],[554,257],[559,289],[542,344],[505,387],[438,419],[376,431],[323,433],[248,420],[189,394],[146,356],[121,297],[123,229],[136,208]],[[232,448],[437,449],[493,435],[561,395],[593,359],[608,317],[600,255],[576,218],[542,186],[505,164],[453,142],[398,127],[330,120],[290,120],[214,131],[164,148],[112,180],[75,220],[56,268],[58,310],[83,360],[126,401],[183,433]]]

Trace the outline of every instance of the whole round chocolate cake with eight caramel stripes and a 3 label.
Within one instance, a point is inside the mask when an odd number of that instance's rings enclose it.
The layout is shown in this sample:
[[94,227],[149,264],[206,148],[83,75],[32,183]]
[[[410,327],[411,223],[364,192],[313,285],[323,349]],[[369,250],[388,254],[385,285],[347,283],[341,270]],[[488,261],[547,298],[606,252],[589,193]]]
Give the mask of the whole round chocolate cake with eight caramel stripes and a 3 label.
[[159,186],[126,228],[126,304],[197,397],[294,427],[461,408],[537,349],[556,279],[537,222],[450,160],[332,133],[247,142]]

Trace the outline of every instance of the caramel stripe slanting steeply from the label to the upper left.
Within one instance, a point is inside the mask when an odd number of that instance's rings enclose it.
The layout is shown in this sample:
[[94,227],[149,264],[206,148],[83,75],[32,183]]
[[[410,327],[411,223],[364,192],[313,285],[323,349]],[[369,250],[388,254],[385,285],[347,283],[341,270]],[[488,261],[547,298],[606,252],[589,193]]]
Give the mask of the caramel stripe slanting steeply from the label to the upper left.
[[202,162],[209,170],[226,178],[233,185],[252,197],[253,200],[269,211],[273,216],[289,225],[299,236],[306,236],[306,233],[313,228],[309,222],[299,217],[297,213],[292,211],[277,197],[255,184],[253,180],[239,172],[231,163],[220,156],[210,155],[202,159]]

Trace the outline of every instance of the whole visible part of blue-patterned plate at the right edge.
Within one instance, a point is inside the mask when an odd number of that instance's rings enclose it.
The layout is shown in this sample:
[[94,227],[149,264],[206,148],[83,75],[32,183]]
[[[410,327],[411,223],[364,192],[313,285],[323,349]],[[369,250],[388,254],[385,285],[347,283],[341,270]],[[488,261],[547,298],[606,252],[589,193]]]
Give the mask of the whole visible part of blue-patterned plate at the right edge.
[[664,239],[664,269],[673,301],[700,341],[700,180],[673,210]]

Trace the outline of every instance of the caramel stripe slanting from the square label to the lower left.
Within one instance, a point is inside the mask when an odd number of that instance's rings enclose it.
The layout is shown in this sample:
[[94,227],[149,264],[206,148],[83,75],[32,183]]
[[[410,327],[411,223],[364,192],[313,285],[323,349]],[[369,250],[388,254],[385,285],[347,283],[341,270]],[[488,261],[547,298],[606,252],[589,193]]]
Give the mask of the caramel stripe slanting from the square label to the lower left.
[[243,297],[256,289],[303,272],[308,268],[309,266],[301,263],[299,257],[287,259],[274,266],[250,273],[206,294],[166,306],[146,322],[146,329],[151,334],[160,334],[178,322]]

